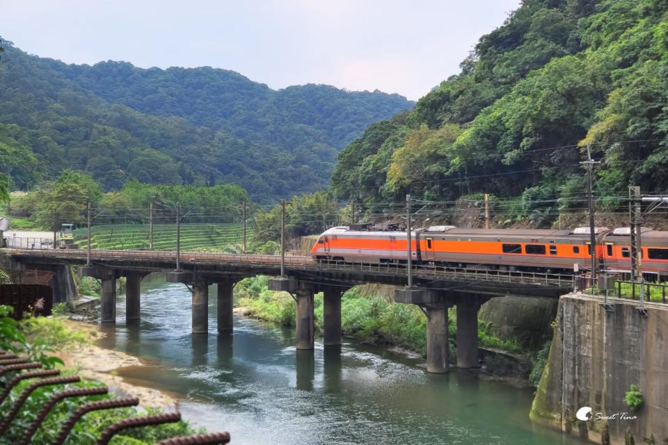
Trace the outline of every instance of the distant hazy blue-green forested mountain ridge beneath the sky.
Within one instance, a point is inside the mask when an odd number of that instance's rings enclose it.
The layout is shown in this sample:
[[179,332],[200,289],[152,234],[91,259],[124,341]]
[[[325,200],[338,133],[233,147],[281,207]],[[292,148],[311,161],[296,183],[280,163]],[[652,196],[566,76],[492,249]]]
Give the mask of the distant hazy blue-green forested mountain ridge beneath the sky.
[[210,67],[66,65],[3,47],[0,172],[19,189],[74,168],[106,190],[234,182],[273,200],[326,186],[342,147],[413,106],[378,91],[276,91]]

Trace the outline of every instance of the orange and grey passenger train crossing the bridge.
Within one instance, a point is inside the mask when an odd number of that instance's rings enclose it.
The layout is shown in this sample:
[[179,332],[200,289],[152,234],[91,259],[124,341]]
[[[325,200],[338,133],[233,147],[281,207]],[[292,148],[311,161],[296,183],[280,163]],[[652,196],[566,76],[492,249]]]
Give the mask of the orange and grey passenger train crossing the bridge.
[[[630,229],[596,227],[596,257],[611,273],[630,273]],[[310,254],[321,262],[405,264],[406,232],[398,227],[337,226],[323,232]],[[435,225],[411,232],[411,261],[429,266],[583,273],[591,268],[589,227],[555,229],[462,229]],[[668,232],[642,228],[642,270],[668,281]]]

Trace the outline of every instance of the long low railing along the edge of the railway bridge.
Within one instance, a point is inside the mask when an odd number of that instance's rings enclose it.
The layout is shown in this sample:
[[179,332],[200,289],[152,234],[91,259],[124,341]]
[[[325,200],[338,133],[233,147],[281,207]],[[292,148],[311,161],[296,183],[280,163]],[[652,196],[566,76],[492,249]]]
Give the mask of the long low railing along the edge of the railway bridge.
[[[77,249],[46,249],[46,250],[15,250],[19,254],[46,254],[52,256],[86,258],[86,250]],[[176,253],[168,251],[147,250],[91,250],[91,259],[127,259],[141,261],[175,261]],[[187,263],[237,263],[256,264],[258,266],[277,267],[280,264],[278,255],[262,254],[218,254],[184,252],[180,256],[182,264]],[[405,264],[390,263],[347,263],[344,261],[315,261],[301,254],[286,254],[285,265],[292,270],[340,270],[345,272],[376,273],[383,275],[404,275]],[[538,286],[573,289],[573,275],[543,272],[527,272],[520,270],[495,270],[490,268],[459,268],[449,266],[429,266],[414,264],[413,273],[416,277],[431,277],[447,280],[477,280],[500,283],[532,284]]]

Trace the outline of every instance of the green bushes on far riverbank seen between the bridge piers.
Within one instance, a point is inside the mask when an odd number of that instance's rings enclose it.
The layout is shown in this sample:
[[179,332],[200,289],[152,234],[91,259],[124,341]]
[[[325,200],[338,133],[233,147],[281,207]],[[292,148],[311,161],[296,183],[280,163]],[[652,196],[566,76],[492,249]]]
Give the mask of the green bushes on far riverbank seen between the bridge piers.
[[[294,325],[296,306],[287,293],[267,289],[268,277],[246,278],[237,287],[237,304],[246,308],[247,314],[255,318]],[[316,330],[322,330],[323,297],[318,293],[314,299]],[[456,318],[449,314],[448,332],[456,339]],[[388,344],[413,350],[421,355],[427,348],[427,318],[415,305],[391,302],[375,293],[365,293],[362,286],[343,294],[341,299],[341,328],[347,337],[367,343]],[[514,339],[499,339],[491,334],[488,325],[480,323],[478,338],[481,346],[500,348],[509,352],[520,352]],[[453,349],[454,352],[454,349]]]

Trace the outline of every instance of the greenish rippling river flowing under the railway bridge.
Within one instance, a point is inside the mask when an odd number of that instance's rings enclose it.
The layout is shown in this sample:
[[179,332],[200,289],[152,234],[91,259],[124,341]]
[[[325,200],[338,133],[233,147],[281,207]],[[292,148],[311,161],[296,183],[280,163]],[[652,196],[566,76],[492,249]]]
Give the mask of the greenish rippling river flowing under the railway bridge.
[[[151,280],[148,280],[151,278]],[[234,334],[191,330],[182,284],[148,277],[141,321],[105,327],[100,346],[141,357],[118,370],[130,382],[167,391],[186,419],[227,430],[233,444],[579,444],[528,419],[532,391],[469,371],[424,372],[424,361],[344,341],[340,349],[294,348],[294,330],[242,317]]]

